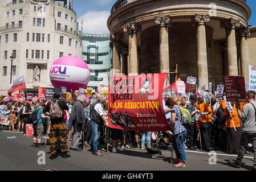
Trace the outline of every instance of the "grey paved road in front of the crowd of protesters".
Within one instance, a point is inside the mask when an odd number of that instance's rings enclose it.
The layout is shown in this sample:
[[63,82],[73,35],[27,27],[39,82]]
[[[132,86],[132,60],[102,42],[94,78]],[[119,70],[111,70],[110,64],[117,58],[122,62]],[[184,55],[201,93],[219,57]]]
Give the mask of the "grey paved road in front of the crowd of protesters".
[[[7,139],[7,137],[17,137]],[[242,168],[229,166],[228,159],[235,156],[226,155],[224,152],[217,151],[217,163],[210,165],[208,160],[211,156],[207,152],[196,150],[186,150],[188,161],[186,168],[174,168],[170,164],[171,152],[162,150],[162,156],[147,154],[140,148],[131,148],[113,154],[103,151],[103,156],[94,156],[90,148],[82,152],[69,151],[71,158],[63,159],[58,156],[55,160],[50,160],[50,150],[47,146],[44,149],[32,148],[32,137],[25,137],[22,133],[8,131],[0,132],[0,170],[39,170],[52,167],[59,170],[74,171],[184,171],[184,170],[217,170],[217,171],[247,171],[253,166],[253,154],[246,155],[243,160]],[[68,142],[68,148],[71,143]],[[46,152],[46,164],[38,164],[38,151]],[[174,158],[175,154],[173,154]]]

